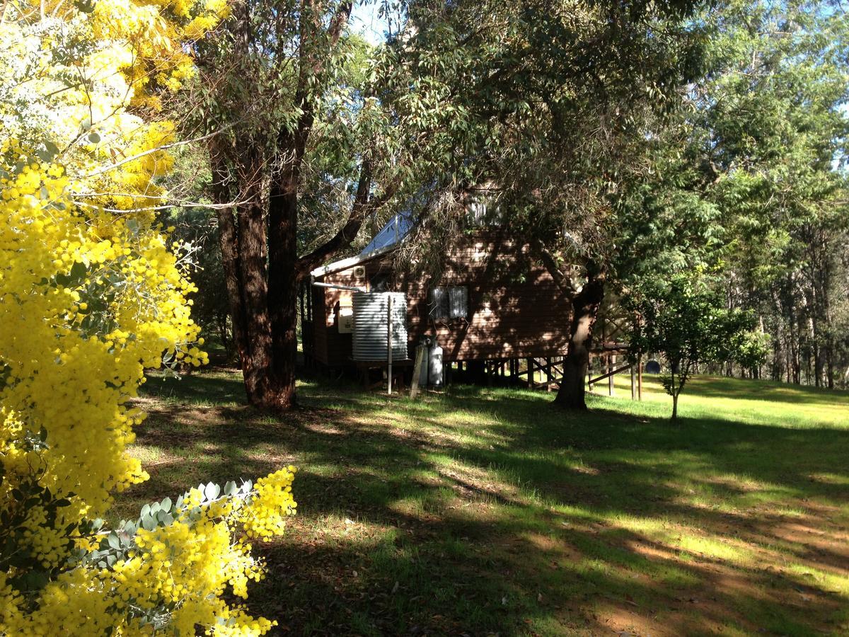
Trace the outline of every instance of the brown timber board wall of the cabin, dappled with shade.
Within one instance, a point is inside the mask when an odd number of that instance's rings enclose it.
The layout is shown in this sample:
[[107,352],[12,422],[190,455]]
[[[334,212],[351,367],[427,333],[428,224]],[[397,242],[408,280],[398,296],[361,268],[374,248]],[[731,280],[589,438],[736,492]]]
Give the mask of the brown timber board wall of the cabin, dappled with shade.
[[[390,258],[364,262],[365,276],[354,268],[325,275],[324,283],[363,285],[376,273],[391,270]],[[428,315],[431,286],[463,285],[469,290],[467,318],[435,321]],[[571,306],[548,272],[492,232],[464,236],[447,251],[437,281],[415,280],[395,289],[407,292],[410,355],[424,335],[436,336],[447,361],[559,356],[565,353]],[[351,361],[351,334],[340,334],[340,307],[351,305],[351,292],[313,287],[316,359],[329,366]],[[323,318],[323,320],[322,320]]]

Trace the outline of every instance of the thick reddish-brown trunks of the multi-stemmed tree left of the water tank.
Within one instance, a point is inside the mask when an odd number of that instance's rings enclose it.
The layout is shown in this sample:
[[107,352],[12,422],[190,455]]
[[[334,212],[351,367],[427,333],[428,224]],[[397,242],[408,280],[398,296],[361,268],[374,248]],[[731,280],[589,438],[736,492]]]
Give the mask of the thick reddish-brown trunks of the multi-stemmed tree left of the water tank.
[[[293,64],[297,69],[292,104],[294,110],[300,111],[296,121],[281,124],[276,132],[249,128],[235,135],[236,142],[221,136],[210,143],[216,203],[241,202],[235,219],[227,206],[219,208],[219,235],[233,341],[239,352],[245,391],[248,401],[261,409],[281,411],[295,405],[299,285],[312,268],[350,245],[363,219],[374,209],[369,207],[368,157],[361,155],[360,182],[347,222],[324,245],[306,256],[298,256],[301,166],[315,122],[315,104],[320,101],[316,97],[335,81],[327,63],[333,59],[333,51],[346,30],[351,7],[350,2],[338,3],[325,23],[322,16],[328,7],[301,3],[301,14],[296,19],[299,39],[295,59],[290,58],[288,39],[280,40],[281,48],[268,56],[283,65],[281,72],[289,73]],[[254,68],[251,48],[256,42],[265,42],[256,37],[255,18],[251,5],[243,4],[228,22],[236,59],[248,65],[249,70]],[[204,66],[207,76],[233,69],[238,72],[239,65],[226,69]],[[230,99],[228,95],[228,103]],[[380,204],[392,192],[391,188],[385,189]]]

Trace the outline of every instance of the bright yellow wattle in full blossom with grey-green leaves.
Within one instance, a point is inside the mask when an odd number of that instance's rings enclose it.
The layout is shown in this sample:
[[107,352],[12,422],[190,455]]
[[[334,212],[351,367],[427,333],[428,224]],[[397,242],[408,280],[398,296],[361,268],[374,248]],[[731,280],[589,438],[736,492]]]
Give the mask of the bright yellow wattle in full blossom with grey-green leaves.
[[[0,635],[264,634],[228,604],[262,577],[246,538],[283,533],[294,467],[250,493],[87,520],[147,479],[127,454],[144,369],[207,362],[189,255],[152,208],[174,140],[157,109],[194,72],[183,42],[223,0],[46,0],[0,19]],[[167,514],[167,517],[166,517]],[[8,523],[7,523],[8,522]]]

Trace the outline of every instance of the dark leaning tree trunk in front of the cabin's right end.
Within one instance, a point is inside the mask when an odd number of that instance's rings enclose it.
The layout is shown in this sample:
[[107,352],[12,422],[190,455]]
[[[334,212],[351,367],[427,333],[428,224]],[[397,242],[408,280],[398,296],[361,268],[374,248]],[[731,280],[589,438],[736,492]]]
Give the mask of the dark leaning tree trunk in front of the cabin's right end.
[[563,358],[563,379],[554,403],[566,409],[587,409],[586,381],[593,325],[604,298],[604,273],[588,274],[582,290],[572,297],[569,347]]

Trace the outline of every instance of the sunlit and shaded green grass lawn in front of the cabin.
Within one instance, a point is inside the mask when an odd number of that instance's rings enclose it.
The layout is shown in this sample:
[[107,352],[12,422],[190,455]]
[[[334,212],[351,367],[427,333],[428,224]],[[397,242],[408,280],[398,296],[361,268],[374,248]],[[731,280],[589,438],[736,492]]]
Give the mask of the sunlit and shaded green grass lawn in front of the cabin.
[[280,634],[849,634],[846,393],[696,378],[673,426],[652,377],[587,414],[323,381],[276,418],[226,370],[145,387],[151,479],[116,517],[300,467],[250,597]]

